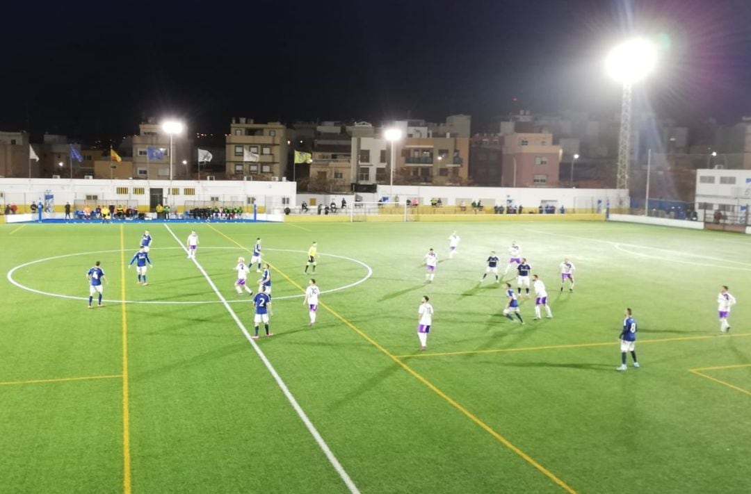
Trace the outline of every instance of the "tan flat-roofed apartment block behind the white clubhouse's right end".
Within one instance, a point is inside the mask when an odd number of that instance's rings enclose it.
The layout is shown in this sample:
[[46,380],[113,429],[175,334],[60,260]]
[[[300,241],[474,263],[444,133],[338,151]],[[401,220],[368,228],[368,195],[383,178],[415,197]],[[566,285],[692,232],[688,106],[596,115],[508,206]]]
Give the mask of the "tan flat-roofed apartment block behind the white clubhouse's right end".
[[282,122],[234,117],[226,137],[228,179],[281,180],[287,169],[287,129]]

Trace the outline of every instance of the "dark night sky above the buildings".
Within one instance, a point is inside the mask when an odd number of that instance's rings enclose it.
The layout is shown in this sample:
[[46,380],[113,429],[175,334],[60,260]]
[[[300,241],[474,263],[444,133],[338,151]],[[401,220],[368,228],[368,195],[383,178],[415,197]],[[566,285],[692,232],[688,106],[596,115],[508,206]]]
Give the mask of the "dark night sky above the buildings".
[[630,31],[670,37],[644,86],[659,114],[751,113],[749,0],[12,2],[3,17],[0,129],[36,139],[122,137],[152,115],[223,133],[231,116],[470,113],[481,130],[520,108],[609,114],[602,60]]

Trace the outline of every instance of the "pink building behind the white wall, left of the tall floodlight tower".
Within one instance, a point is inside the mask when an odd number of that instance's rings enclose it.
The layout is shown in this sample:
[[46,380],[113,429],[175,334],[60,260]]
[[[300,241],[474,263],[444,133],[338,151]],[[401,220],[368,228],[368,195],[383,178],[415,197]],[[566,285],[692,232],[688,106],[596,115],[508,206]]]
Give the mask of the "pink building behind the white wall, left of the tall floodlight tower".
[[561,155],[561,146],[553,146],[553,134],[506,134],[501,186],[557,187]]

